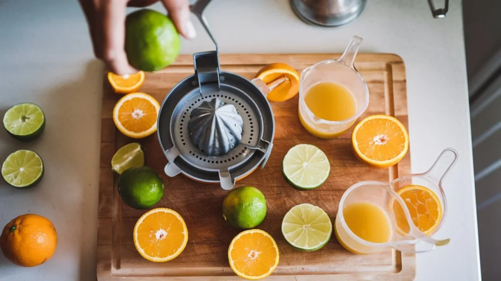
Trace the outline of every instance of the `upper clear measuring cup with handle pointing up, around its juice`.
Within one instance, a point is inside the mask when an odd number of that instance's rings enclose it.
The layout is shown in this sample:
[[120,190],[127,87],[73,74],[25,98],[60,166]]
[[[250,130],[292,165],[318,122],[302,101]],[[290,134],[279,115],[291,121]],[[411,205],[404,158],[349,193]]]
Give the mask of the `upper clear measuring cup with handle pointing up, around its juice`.
[[[339,136],[350,129],[357,118],[367,109],[369,90],[364,78],[353,65],[362,41],[362,38],[354,36],[341,58],[316,63],[301,72],[299,119],[311,134],[320,138]],[[305,101],[305,97],[311,87],[322,82],[339,84],[350,92],[356,108],[353,116],[341,121],[331,121],[322,119],[312,112]]]

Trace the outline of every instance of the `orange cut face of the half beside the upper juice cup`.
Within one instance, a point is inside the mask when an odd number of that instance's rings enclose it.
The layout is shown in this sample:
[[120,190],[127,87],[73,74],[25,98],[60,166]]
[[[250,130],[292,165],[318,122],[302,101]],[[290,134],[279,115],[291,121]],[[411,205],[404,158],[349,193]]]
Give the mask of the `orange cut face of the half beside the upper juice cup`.
[[391,160],[405,150],[405,134],[398,124],[388,119],[366,121],[357,131],[357,146],[367,158]]

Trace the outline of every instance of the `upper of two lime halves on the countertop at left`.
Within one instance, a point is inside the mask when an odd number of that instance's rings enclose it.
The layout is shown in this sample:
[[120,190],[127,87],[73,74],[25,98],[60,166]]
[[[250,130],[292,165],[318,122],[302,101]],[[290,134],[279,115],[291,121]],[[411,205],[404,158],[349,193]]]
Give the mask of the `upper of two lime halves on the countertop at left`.
[[19,140],[34,140],[44,131],[44,112],[36,104],[17,104],[5,113],[4,128],[11,136]]

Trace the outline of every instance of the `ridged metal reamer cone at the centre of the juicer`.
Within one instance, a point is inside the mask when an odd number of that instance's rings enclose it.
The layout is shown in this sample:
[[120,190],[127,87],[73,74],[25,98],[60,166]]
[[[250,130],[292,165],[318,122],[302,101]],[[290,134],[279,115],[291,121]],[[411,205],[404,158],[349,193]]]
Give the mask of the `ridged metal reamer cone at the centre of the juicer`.
[[187,125],[190,139],[200,151],[208,156],[224,155],[240,142],[243,120],[234,105],[212,98],[194,106]]

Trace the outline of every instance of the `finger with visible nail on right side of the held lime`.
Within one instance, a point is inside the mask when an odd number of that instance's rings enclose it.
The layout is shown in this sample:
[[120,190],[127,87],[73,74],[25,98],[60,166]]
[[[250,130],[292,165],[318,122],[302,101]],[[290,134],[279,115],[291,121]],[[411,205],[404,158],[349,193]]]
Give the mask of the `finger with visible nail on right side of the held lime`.
[[189,18],[190,11],[188,0],[162,0],[162,3],[174,22],[177,31],[186,39],[195,38],[195,27]]

